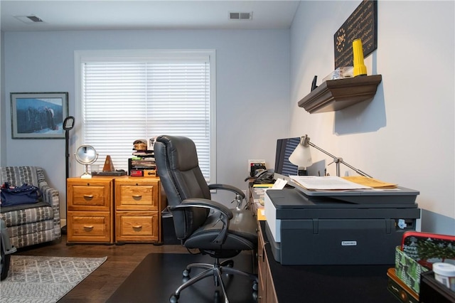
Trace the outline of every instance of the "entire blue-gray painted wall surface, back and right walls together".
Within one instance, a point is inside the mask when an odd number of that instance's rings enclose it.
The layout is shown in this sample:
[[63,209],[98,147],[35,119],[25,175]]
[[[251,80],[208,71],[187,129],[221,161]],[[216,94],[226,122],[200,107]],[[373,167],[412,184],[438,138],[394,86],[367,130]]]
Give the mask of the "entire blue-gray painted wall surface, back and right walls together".
[[333,70],[333,33],[359,3],[301,1],[291,29],[280,31],[4,33],[1,158],[43,166],[64,206],[64,142],[12,140],[9,93],[68,91],[72,114],[74,50],[215,48],[218,182],[245,188],[247,159],[273,166],[277,138],[309,134],[376,178],[419,190],[422,230],[455,234],[453,1],[378,1],[378,50],[365,59],[369,74],[382,75],[375,98],[340,112],[297,107],[314,75],[319,85]]

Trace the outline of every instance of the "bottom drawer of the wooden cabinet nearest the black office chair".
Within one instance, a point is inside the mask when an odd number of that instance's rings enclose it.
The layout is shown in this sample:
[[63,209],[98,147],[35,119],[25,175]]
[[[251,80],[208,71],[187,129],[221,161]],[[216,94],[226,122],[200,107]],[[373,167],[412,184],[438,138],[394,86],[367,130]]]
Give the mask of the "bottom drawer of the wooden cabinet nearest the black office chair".
[[159,241],[159,216],[156,212],[117,212],[116,242]]

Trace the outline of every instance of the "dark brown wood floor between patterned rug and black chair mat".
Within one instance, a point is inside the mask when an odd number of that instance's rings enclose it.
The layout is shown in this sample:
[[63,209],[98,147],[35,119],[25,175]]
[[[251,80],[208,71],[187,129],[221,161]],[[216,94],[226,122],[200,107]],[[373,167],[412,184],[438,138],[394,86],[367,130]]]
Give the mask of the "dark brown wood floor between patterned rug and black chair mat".
[[59,303],[101,303],[124,282],[150,252],[186,253],[181,245],[134,243],[125,245],[66,245],[66,236],[58,242],[21,248],[15,255],[50,257],[107,257],[107,261],[60,299]]

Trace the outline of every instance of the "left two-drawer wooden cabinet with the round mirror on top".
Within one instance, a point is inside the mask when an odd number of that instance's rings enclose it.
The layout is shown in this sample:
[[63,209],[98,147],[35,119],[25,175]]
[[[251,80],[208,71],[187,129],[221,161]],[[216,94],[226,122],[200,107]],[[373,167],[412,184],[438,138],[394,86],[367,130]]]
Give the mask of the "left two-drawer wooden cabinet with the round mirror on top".
[[67,183],[68,243],[113,243],[112,178],[70,178]]

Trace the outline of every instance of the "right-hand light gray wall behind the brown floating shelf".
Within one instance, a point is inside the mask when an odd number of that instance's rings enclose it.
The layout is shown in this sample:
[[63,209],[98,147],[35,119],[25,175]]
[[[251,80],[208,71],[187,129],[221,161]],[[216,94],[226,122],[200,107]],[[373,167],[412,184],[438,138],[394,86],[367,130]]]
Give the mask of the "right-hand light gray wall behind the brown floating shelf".
[[382,75],[375,98],[339,112],[297,107],[314,75],[319,85],[333,70],[333,34],[359,3],[301,2],[291,28],[291,135],[309,134],[375,178],[420,191],[422,230],[454,235],[454,1],[378,1],[378,50],[365,58],[368,74]]

